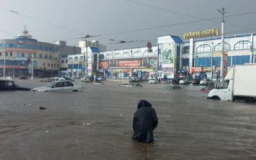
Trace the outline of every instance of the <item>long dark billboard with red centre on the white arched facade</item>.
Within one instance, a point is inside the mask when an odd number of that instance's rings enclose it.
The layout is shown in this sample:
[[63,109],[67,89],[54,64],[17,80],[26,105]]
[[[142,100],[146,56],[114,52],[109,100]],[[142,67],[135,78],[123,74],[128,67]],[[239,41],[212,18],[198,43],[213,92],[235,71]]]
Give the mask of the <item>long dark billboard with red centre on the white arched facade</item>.
[[100,60],[99,69],[108,68],[156,68],[157,58],[126,58],[120,60]]

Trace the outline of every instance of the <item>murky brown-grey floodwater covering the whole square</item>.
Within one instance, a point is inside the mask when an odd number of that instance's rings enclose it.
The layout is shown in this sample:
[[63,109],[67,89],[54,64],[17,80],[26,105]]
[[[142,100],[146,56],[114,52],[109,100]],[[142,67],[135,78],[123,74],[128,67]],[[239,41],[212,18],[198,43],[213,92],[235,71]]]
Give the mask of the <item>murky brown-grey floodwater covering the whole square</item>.
[[[0,159],[256,159],[256,106],[207,100],[200,86],[118,84],[83,84],[84,92],[72,93],[0,92]],[[159,118],[152,144],[131,140],[140,99]]]

